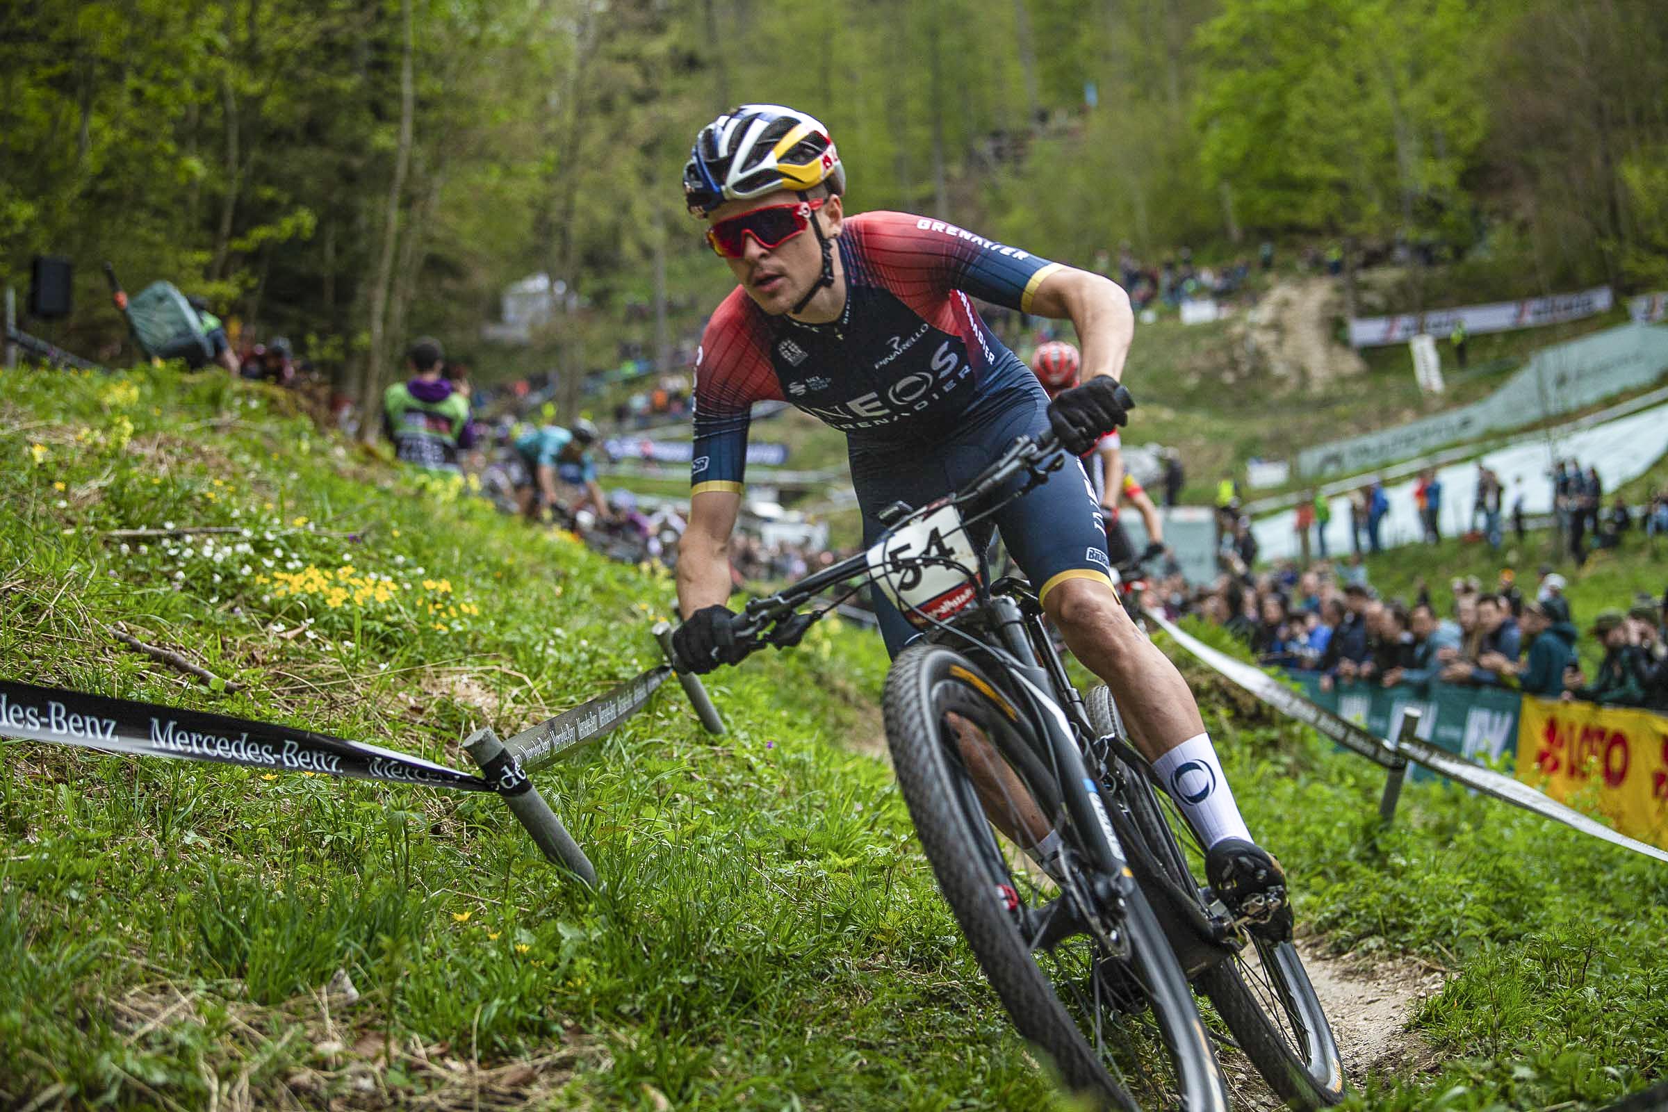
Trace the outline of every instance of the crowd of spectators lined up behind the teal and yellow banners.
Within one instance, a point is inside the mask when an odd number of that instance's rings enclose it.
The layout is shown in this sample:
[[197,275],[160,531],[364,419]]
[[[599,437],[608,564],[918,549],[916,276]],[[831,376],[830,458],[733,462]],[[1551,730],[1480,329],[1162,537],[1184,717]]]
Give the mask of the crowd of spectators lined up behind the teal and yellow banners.
[[[1171,615],[1224,627],[1268,667],[1318,672],[1328,690],[1351,680],[1439,680],[1668,712],[1668,590],[1661,600],[1641,595],[1628,610],[1605,610],[1583,630],[1565,587],[1543,567],[1525,597],[1503,569],[1490,589],[1473,577],[1453,580],[1451,607],[1438,609],[1423,582],[1408,599],[1381,599],[1356,557],[1344,567],[1319,560],[1304,570],[1284,564],[1254,577],[1224,575],[1196,590],[1173,575],[1156,597]],[[1578,660],[1583,634],[1603,649],[1591,675]]]

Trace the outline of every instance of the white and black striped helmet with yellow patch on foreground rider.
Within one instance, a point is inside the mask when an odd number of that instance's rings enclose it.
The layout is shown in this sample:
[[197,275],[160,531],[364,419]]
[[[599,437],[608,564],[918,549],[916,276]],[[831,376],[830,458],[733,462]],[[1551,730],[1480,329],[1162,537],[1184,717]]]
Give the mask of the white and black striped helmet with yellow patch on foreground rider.
[[846,168],[816,117],[782,105],[741,105],[701,128],[684,165],[684,202],[707,217],[727,200],[779,188],[846,192]]

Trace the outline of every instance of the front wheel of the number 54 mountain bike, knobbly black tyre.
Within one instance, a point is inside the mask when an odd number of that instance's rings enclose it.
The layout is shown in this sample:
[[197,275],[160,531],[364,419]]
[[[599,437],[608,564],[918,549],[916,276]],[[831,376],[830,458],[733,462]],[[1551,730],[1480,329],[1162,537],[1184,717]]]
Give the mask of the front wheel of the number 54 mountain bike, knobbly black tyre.
[[[1121,912],[1101,919],[1104,930],[1049,935],[1076,897],[1063,897],[1059,882],[1027,860],[1034,845],[1021,842],[1036,837],[1034,824],[1027,835],[1016,815],[1031,799],[1058,799],[1046,779],[1081,775],[1081,764],[1051,770],[1022,712],[941,645],[897,657],[884,710],[897,784],[939,890],[1019,1034],[1054,1059],[1066,1085],[1103,1107],[1224,1112],[1209,1037],[1144,897],[1131,892]],[[969,730],[987,744],[969,742]],[[992,817],[1016,834],[1002,834]],[[1099,834],[1051,819],[1068,862],[1088,860],[1073,849]],[[1068,882],[1088,892],[1081,874]]]

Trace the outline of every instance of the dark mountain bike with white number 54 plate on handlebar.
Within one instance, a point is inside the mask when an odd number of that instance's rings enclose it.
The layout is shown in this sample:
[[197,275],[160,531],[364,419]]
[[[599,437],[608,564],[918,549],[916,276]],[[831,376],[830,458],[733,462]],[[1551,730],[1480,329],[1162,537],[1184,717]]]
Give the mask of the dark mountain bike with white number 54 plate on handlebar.
[[[1106,690],[1086,702],[1073,687],[1026,582],[989,580],[991,513],[1066,458],[1053,433],[1021,437],[964,488],[887,507],[866,552],[749,602],[737,645],[796,645],[839,597],[801,607],[871,582],[922,629],[886,677],[897,782],[979,965],[1069,1089],[1104,1107],[1228,1109],[1224,1045],[1281,1097],[1336,1104],[1338,1052],[1296,950],[1253,942],[1194,879]],[[1216,1004],[1209,1030],[1189,980]]]

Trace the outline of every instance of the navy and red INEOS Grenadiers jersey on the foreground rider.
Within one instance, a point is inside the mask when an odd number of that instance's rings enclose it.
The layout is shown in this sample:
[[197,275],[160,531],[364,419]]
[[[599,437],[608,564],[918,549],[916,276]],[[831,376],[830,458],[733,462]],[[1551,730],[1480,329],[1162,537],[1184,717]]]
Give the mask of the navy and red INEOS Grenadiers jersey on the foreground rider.
[[1029,312],[1059,263],[902,212],[847,217],[836,248],[839,320],[772,317],[736,287],[707,322],[696,353],[696,493],[741,490],[754,402],[792,402],[844,430],[861,455],[931,447],[1036,393],[969,298]]

